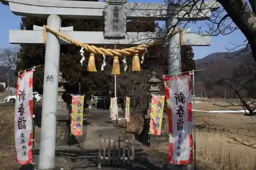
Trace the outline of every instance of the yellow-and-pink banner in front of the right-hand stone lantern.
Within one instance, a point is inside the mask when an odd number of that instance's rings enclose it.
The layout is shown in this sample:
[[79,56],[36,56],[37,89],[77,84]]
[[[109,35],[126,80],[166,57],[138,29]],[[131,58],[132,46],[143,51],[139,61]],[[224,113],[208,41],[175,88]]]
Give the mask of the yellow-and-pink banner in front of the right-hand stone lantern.
[[150,114],[150,134],[161,135],[164,95],[152,95]]

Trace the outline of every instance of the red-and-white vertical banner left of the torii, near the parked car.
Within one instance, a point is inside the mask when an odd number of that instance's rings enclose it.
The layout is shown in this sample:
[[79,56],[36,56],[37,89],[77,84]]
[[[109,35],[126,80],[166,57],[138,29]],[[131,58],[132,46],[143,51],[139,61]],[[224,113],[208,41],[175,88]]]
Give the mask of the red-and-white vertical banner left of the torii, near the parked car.
[[18,76],[14,113],[15,159],[20,164],[31,164],[32,117],[33,117],[33,71]]

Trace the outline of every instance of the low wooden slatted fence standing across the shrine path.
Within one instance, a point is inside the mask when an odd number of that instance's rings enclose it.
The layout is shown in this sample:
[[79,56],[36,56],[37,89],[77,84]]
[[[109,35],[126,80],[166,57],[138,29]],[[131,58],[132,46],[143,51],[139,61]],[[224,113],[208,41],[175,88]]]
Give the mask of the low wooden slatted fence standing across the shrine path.
[[98,168],[101,165],[132,165],[135,157],[134,136],[109,139],[99,136]]

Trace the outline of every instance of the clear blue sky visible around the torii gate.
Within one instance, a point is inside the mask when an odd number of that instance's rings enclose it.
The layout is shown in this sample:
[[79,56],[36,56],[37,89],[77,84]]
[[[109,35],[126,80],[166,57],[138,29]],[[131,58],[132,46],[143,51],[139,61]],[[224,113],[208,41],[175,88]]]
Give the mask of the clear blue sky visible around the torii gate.
[[[163,0],[128,0],[128,2],[135,3],[164,3]],[[12,44],[9,43],[9,30],[19,30],[20,29],[20,16],[14,15],[9,6],[3,5],[0,3],[0,48],[1,47],[10,47]],[[191,31],[196,31],[198,27],[205,26],[205,21],[200,21],[190,25],[189,28]],[[206,29],[206,28],[205,28]],[[200,59],[206,57],[211,53],[218,52],[227,52],[227,48],[233,48],[233,44],[240,45],[244,42],[245,36],[241,33],[240,30],[234,31],[229,35],[219,35],[211,37],[210,46],[194,46],[193,50],[195,53],[195,59]],[[237,49],[239,50],[239,49]]]

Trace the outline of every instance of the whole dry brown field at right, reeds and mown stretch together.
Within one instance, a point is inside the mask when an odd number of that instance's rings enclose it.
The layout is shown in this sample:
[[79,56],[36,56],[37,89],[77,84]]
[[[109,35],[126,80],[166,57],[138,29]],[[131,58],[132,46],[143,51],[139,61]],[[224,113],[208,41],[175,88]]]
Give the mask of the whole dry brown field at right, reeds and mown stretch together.
[[[196,103],[197,110],[243,110],[221,103]],[[256,169],[256,117],[234,113],[196,113],[196,153],[200,167]]]

